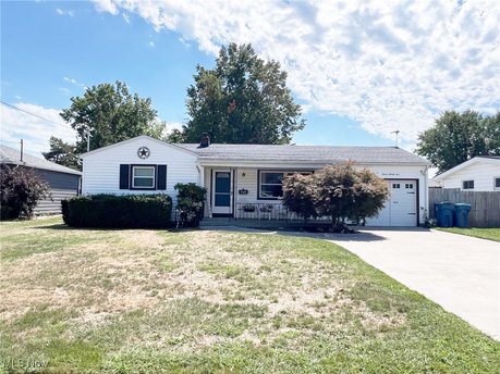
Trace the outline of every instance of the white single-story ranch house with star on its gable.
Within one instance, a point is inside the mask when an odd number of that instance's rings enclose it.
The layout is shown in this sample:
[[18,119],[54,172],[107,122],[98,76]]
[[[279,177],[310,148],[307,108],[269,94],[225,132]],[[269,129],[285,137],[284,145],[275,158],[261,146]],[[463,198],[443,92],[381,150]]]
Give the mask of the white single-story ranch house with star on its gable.
[[[281,180],[327,164],[353,161],[385,178],[390,199],[374,226],[417,226],[427,214],[429,162],[397,147],[168,144],[138,136],[82,154],[82,192],[166,192],[175,204],[178,183],[208,188],[205,216],[290,219],[280,203]],[[172,217],[173,219],[173,217]]]

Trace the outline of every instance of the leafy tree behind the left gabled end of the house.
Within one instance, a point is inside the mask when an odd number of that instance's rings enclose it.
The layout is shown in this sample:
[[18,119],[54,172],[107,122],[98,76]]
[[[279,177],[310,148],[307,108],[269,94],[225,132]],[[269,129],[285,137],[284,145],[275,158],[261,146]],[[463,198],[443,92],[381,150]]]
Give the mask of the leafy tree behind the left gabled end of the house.
[[164,124],[157,120],[157,111],[151,108],[151,99],[130,94],[122,82],[93,86],[71,101],[71,107],[64,109],[61,116],[77,132],[76,153],[87,150],[87,129],[90,150],[138,135],[160,138],[164,129]]

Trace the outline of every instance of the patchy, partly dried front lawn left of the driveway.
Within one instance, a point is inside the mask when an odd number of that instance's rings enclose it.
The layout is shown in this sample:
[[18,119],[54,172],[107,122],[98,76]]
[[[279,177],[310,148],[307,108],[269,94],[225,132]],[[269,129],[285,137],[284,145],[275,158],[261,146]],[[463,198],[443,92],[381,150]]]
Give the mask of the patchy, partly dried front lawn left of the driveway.
[[500,372],[499,342],[324,240],[0,228],[0,372]]

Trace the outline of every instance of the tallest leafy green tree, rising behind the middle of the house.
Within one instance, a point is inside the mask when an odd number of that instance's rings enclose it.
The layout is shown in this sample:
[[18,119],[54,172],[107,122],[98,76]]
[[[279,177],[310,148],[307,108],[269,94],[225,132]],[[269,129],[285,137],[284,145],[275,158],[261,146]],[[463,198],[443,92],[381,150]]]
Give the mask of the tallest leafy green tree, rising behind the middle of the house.
[[208,133],[217,142],[288,144],[304,127],[286,73],[279,62],[259,59],[251,45],[222,47],[216,67],[196,71],[187,88],[185,141]]

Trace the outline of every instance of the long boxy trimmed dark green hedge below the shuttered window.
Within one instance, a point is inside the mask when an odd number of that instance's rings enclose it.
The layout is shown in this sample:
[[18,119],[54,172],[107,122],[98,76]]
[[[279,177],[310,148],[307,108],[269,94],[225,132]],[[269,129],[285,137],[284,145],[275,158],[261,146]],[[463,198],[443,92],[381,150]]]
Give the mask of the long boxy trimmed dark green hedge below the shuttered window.
[[168,195],[88,195],[61,201],[64,223],[73,227],[149,228],[172,225]]

